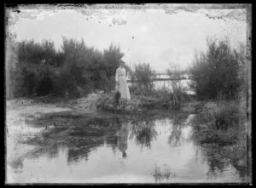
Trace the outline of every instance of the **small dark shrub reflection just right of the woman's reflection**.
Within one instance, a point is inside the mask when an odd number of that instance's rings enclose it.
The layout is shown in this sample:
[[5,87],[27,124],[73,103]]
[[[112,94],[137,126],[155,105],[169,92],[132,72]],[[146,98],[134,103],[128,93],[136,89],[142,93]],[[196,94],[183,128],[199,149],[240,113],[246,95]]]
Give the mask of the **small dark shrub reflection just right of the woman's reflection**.
[[157,136],[154,129],[154,122],[135,122],[131,128],[131,138],[135,137],[137,144],[151,147],[151,142]]

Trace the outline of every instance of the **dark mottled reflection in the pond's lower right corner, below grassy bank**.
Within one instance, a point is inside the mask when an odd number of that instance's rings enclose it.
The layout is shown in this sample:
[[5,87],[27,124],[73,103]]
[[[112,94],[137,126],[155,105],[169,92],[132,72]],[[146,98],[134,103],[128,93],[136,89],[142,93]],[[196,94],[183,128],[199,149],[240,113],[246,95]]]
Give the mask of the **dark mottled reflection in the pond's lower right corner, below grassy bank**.
[[[242,167],[237,165],[237,163],[244,158],[246,158],[247,149],[246,143],[237,137],[236,139],[232,140],[232,142],[236,143],[235,145],[223,145],[224,135],[222,137],[213,137],[214,142],[210,142],[212,144],[207,144],[206,140],[212,141],[212,135],[214,135],[214,129],[210,129],[207,127],[207,118],[197,116],[191,121],[194,127],[194,134],[193,140],[197,145],[201,146],[201,151],[204,153],[203,157],[207,159],[208,162],[208,177],[218,176],[219,173],[221,174],[224,172],[225,168],[229,165],[236,168],[239,177],[242,181],[247,179],[247,164],[244,164]],[[212,134],[213,133],[213,134]],[[231,134],[231,133],[230,133]]]

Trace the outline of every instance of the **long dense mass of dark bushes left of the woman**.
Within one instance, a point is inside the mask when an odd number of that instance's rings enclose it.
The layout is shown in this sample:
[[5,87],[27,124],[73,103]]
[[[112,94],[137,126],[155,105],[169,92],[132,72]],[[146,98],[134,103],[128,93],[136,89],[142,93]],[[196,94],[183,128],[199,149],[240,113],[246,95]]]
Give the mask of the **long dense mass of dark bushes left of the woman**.
[[66,37],[59,50],[47,40],[7,40],[6,49],[7,99],[48,94],[79,97],[95,89],[112,90],[115,70],[124,55],[113,44],[99,51],[84,40]]

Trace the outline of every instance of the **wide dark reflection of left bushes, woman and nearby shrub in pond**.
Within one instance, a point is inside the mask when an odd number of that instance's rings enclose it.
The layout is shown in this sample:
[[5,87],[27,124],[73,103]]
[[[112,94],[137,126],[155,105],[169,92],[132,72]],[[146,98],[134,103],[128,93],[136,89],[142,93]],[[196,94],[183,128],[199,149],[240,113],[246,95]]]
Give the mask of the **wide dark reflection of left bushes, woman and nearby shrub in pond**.
[[[90,151],[100,145],[108,145],[110,148],[123,152],[126,156],[127,140],[131,127],[127,127],[126,122],[134,121],[133,135],[137,144],[150,146],[151,141],[156,136],[153,122],[156,116],[153,114],[144,116],[126,115],[102,115],[96,117],[91,115],[73,115],[69,112],[50,113],[33,120],[35,126],[49,125],[40,136],[24,141],[24,144],[36,145],[35,150],[29,152],[26,157],[37,158],[47,156],[57,157],[61,147],[67,148],[67,162],[87,159]],[[145,121],[148,122],[139,123]],[[150,120],[149,120],[150,119]],[[151,122],[150,122],[151,121]],[[50,126],[55,124],[55,126]],[[137,124],[137,125],[135,125]],[[131,133],[132,134],[132,133]],[[84,149],[86,148],[86,149]]]

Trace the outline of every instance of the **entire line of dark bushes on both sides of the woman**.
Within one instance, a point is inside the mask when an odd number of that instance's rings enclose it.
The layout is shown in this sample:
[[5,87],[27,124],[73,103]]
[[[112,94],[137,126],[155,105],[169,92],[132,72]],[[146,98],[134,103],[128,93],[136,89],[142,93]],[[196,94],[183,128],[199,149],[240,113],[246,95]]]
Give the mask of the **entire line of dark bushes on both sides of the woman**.
[[[33,40],[6,41],[6,98],[33,97],[53,94],[79,97],[99,89],[109,92],[115,87],[115,71],[124,56],[118,46],[111,44],[102,51],[89,47],[84,40],[62,38],[61,48],[54,42]],[[201,99],[233,99],[247,91],[246,48],[231,48],[230,42],[207,39],[207,50],[195,54],[194,63],[186,70],[192,80],[190,89]],[[126,66],[131,81],[131,93],[150,94],[154,91],[156,72],[148,63]],[[167,69],[170,78],[184,72]],[[174,82],[174,81],[173,81]],[[173,83],[172,82],[172,83]],[[176,87],[177,82],[173,83]],[[173,85],[172,84],[172,85]],[[155,93],[155,91],[153,92]]]

